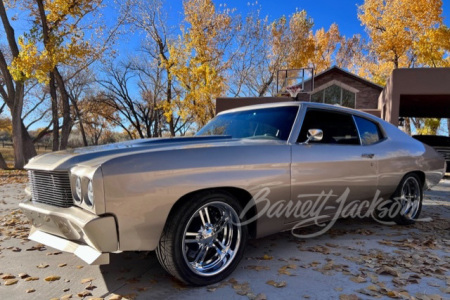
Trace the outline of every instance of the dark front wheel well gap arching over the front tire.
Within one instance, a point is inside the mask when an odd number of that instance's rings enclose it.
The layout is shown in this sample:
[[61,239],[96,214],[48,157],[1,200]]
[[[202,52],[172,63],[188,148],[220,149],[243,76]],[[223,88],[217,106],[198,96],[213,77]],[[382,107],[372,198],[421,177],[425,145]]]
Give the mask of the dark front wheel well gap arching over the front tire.
[[[169,217],[171,214],[173,214],[175,211],[177,211],[180,206],[182,206],[184,203],[186,203],[186,201],[189,201],[189,199],[192,196],[194,196],[197,193],[207,192],[207,191],[227,192],[236,198],[236,200],[239,202],[239,204],[241,205],[242,208],[244,208],[247,205],[247,203],[252,199],[252,195],[248,191],[241,189],[241,188],[235,188],[235,187],[216,187],[216,188],[197,190],[197,191],[190,192],[190,193],[182,196],[180,199],[178,199],[177,202],[175,202],[175,204],[172,206],[170,213],[169,213]],[[245,214],[245,218],[250,219],[253,216],[255,216],[256,213],[257,213],[256,207],[255,207],[255,205],[252,205],[251,208],[248,210],[248,212]],[[247,228],[248,228],[249,236],[251,238],[255,238],[256,237],[256,221],[249,223],[247,225]]]

